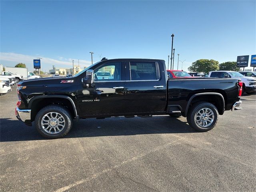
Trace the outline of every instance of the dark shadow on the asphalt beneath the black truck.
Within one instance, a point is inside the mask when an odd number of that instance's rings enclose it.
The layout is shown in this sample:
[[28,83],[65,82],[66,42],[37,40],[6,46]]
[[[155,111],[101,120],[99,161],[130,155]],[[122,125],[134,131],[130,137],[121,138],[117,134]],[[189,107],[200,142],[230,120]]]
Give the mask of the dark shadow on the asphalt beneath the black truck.
[[[26,126],[19,120],[0,120],[0,142],[45,140],[33,126]],[[186,118],[154,116],[153,118],[106,118],[84,119],[74,122],[72,130],[64,138],[129,136],[140,134],[193,133]]]

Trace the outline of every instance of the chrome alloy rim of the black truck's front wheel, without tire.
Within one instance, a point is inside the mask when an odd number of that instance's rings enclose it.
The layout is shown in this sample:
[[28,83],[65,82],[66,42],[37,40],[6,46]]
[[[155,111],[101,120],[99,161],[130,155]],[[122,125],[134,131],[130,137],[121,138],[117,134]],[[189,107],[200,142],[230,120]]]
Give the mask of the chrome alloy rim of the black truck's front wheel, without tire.
[[41,126],[49,134],[57,134],[65,127],[64,117],[57,112],[50,112],[43,116]]

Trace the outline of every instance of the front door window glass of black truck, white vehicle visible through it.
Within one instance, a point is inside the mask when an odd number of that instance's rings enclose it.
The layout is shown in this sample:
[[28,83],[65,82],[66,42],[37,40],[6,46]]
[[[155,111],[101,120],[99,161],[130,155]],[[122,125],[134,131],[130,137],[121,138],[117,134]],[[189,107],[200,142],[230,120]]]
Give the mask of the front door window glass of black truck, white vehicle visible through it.
[[121,62],[106,63],[94,70],[94,81],[120,81]]

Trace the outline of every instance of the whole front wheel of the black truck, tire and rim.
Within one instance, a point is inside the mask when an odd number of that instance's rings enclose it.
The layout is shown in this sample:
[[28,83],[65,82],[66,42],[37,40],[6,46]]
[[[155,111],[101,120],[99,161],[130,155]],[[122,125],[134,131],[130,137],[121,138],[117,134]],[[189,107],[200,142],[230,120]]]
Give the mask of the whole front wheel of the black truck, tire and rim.
[[42,108],[35,118],[36,130],[46,138],[62,138],[72,128],[73,119],[69,110],[60,105]]

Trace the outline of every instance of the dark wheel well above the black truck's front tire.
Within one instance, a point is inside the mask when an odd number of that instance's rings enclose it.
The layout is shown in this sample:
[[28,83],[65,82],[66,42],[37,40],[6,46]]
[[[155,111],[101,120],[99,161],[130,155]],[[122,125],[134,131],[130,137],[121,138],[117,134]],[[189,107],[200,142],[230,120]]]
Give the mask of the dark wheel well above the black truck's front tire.
[[32,102],[31,107],[31,122],[36,118],[36,114],[44,107],[52,104],[64,106],[70,111],[70,114],[75,118],[75,112],[71,102],[66,98],[39,98]]

